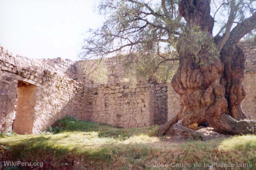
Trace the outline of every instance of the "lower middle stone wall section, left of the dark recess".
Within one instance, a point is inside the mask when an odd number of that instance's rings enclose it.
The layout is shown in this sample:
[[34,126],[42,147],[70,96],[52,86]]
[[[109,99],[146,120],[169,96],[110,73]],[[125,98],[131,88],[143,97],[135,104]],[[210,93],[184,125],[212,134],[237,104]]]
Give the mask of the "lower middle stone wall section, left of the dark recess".
[[89,92],[89,120],[123,128],[153,125],[151,85],[129,88],[125,83],[94,87]]

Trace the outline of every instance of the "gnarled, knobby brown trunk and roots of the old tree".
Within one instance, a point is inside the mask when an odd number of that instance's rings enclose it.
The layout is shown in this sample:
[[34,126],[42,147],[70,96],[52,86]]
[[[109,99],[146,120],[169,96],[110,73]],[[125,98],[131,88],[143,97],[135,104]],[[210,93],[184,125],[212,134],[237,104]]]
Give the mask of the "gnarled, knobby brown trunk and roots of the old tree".
[[[187,24],[196,24],[201,30],[212,35],[214,20],[210,16],[210,0],[182,0],[179,12]],[[256,17],[253,15],[252,17]],[[254,28],[256,19],[238,24]],[[248,21],[248,20],[247,20]],[[247,22],[245,21],[245,22]],[[252,25],[255,26],[252,26]],[[234,28],[237,32],[238,28]],[[248,30],[247,30],[248,31]],[[180,64],[172,79],[172,87],[181,97],[181,111],[159,127],[159,135],[164,135],[171,127],[182,135],[207,139],[203,134],[187,128],[189,124],[208,122],[211,127],[221,133],[256,134],[256,120],[246,120],[241,103],[245,97],[243,76],[245,73],[245,55],[237,45],[246,34],[235,36],[230,33],[228,40],[220,50],[220,57],[211,58],[208,65],[198,65],[191,54],[180,56]],[[237,37],[241,37],[237,40]],[[215,37],[218,46],[221,37]],[[202,50],[203,51],[203,50]],[[201,62],[207,62],[211,56],[203,51]]]

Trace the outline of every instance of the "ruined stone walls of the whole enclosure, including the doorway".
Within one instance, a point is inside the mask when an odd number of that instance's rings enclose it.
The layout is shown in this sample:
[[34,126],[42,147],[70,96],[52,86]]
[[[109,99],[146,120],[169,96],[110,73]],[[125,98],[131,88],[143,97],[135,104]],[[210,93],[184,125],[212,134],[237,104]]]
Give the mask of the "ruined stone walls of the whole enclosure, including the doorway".
[[[246,54],[243,110],[256,119],[256,46],[241,42]],[[65,115],[122,128],[164,124],[180,111],[171,84],[128,85],[124,58],[107,58],[108,82],[94,84],[83,61],[13,57],[0,49],[0,132],[39,133]]]

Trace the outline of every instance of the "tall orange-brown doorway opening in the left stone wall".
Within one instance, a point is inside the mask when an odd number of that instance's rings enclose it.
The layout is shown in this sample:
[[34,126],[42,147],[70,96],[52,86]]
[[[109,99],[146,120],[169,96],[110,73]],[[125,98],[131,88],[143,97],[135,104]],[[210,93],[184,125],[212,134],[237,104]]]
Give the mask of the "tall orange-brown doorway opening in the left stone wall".
[[32,134],[37,86],[18,81],[16,114],[13,131],[17,134]]

